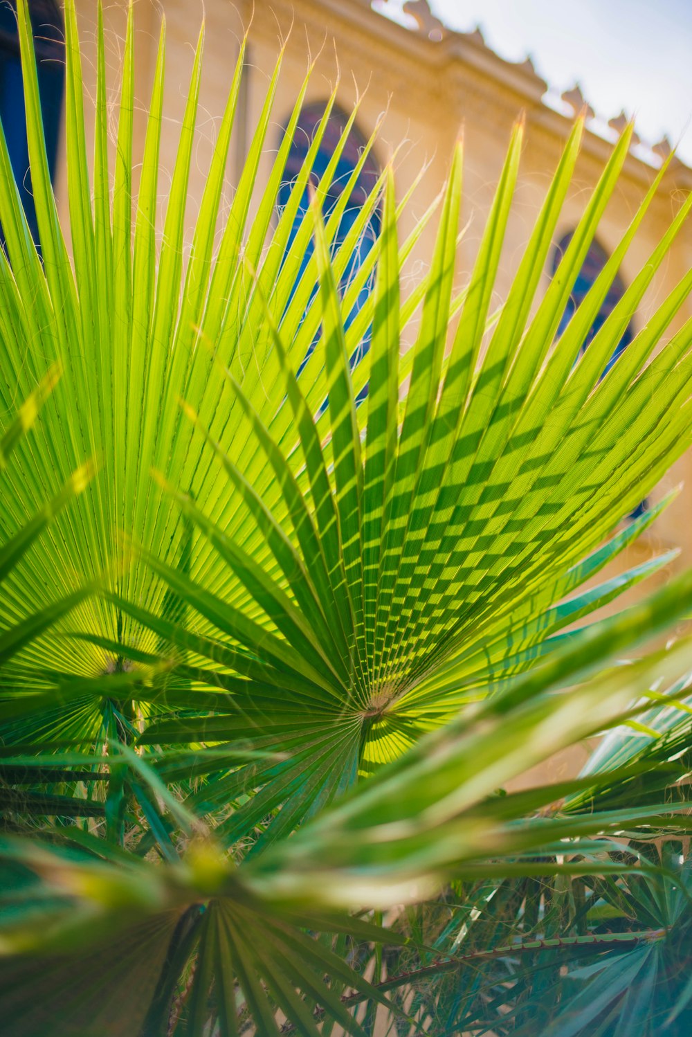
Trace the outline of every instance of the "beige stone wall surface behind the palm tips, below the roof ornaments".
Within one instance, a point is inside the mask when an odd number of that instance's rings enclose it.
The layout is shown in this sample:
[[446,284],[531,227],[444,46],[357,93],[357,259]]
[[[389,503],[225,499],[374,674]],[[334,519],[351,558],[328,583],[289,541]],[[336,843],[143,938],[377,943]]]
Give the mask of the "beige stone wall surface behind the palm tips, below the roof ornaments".
[[[85,78],[92,86],[93,54],[89,47],[95,21],[94,0],[78,0],[86,43]],[[348,111],[362,94],[358,114],[361,132],[368,137],[382,113],[386,113],[375,145],[380,164],[393,156],[398,191],[402,194],[428,163],[413,202],[402,220],[406,234],[415,219],[440,190],[452,147],[463,125],[465,183],[463,221],[468,228],[459,249],[460,282],[470,270],[484,220],[499,174],[512,124],[521,109],[526,111],[527,134],[515,213],[508,234],[506,260],[496,285],[497,300],[507,291],[522,248],[554,169],[569,120],[541,102],[543,84],[530,67],[508,64],[472,37],[452,34],[434,44],[373,13],[367,0],[137,0],[138,97],[143,104],[150,90],[156,54],[160,11],[167,19],[168,65],[166,121],[162,161],[169,175],[173,168],[177,132],[186,96],[194,46],[204,10],[206,41],[202,82],[201,118],[195,165],[190,183],[192,230],[196,204],[205,181],[214,128],[224,109],[226,94],[238,53],[243,28],[249,28],[248,78],[241,97],[235,139],[228,168],[229,192],[237,179],[253,128],[257,123],[277,54],[287,40],[280,87],[273,111],[269,145],[263,157],[260,181],[266,180],[281,125],[289,115],[306,73],[309,54],[315,69],[308,88],[309,101],[324,99],[340,74],[339,104]],[[253,15],[254,8],[254,15]],[[111,0],[106,9],[109,59],[115,61],[122,46],[125,0]],[[140,111],[136,123],[136,153],[143,147],[145,120]],[[587,134],[574,187],[560,226],[563,232],[576,223],[594,187],[609,145]],[[636,211],[654,171],[633,157],[628,159],[617,193],[602,221],[599,237],[612,250]],[[677,168],[664,180],[646,221],[623,265],[626,282],[643,265],[664,227],[680,203],[683,189],[692,184],[689,170]],[[64,199],[64,185],[58,184]],[[166,177],[162,183],[165,201]],[[66,214],[65,214],[66,218]],[[407,274],[415,276],[432,252],[430,228],[412,257]],[[663,271],[635,317],[639,329],[653,309],[689,269],[692,246],[689,232],[671,252]],[[544,275],[548,282],[547,272]],[[688,305],[680,320],[692,314]],[[680,320],[677,324],[680,324]],[[688,475],[689,457],[666,477],[665,486]],[[692,473],[690,473],[692,474]],[[692,478],[669,512],[650,534],[650,551],[676,543],[683,558],[692,563]]]

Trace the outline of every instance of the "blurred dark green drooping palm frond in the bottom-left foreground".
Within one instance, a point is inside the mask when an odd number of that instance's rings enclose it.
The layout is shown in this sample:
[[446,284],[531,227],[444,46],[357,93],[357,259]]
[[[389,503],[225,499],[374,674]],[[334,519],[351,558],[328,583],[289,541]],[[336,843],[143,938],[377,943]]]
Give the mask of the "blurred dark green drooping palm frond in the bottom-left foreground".
[[264,903],[204,844],[166,869],[78,830],[63,835],[53,848],[0,840],[15,908],[0,926],[0,1004],[11,1037],[40,1037],[47,1027],[64,1037],[199,1037],[209,1026],[229,1037],[279,1037],[282,1019],[317,1037],[325,1010],[345,1033],[366,1037],[344,989],[387,1004],[344,959],[350,941],[405,937]]

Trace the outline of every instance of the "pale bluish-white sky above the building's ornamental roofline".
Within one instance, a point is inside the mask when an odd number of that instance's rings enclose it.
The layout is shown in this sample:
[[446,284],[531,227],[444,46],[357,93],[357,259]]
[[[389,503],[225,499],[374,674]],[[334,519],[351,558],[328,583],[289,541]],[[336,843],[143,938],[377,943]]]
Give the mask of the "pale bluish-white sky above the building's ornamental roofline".
[[642,140],[654,144],[665,133],[692,165],[692,0],[430,0],[430,7],[461,32],[480,25],[508,60],[530,54],[558,94],[578,80],[606,121],[624,108]]

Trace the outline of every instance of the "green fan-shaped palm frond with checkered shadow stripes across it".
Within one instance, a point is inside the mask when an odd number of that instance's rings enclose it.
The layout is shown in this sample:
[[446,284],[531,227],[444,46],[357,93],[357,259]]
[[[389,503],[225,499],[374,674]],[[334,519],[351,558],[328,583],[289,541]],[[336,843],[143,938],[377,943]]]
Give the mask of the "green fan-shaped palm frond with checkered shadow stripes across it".
[[[272,432],[231,371],[226,377],[234,407],[247,421],[247,452],[225,451],[195,409],[185,405],[241,498],[244,516],[214,522],[190,496],[169,487],[228,567],[223,597],[210,592],[206,574],[193,581],[154,560],[151,564],[215,633],[205,642],[129,611],[180,648],[218,664],[213,673],[196,666],[189,675],[232,694],[212,717],[162,720],[143,740],[241,736],[291,754],[286,764],[253,765],[252,773],[225,776],[199,793],[197,806],[212,809],[248,787],[264,785],[227,822],[229,836],[259,823],[295,792],[293,809],[282,811],[272,829],[275,835],[288,831],[352,780],[358,766],[369,769],[396,756],[422,730],[448,721],[493,682],[540,662],[560,642],[563,627],[669,560],[664,556],[596,590],[574,593],[653,521],[659,509],[603,543],[689,442],[689,327],[656,359],[651,357],[692,283],[687,276],[603,377],[623,329],[683,225],[686,203],[576,363],[657,179],[604,275],[551,348],[629,144],[627,133],[557,276],[529,317],[580,133],[577,124],[515,282],[492,319],[490,298],[517,177],[521,128],[510,145],[470,283],[459,299],[453,278],[460,148],[455,156],[419,335],[405,370],[400,362],[400,253],[387,175],[372,347],[364,362],[366,404],[356,407],[357,383],[349,370],[343,309],[317,194],[313,213],[322,330],[315,356],[326,376],[324,418],[306,397],[268,307],[264,318],[283,374],[284,408],[292,417],[288,430],[281,437]],[[459,323],[445,353],[457,309]],[[241,661],[233,655],[235,647],[220,647],[220,635],[244,650]],[[224,666],[235,673],[224,675]]]

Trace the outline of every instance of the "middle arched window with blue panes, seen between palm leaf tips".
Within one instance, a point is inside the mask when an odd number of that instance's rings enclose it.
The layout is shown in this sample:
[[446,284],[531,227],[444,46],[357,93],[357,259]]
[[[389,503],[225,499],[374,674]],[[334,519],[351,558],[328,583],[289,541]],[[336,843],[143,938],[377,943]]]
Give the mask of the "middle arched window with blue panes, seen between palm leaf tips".
[[[281,211],[287,203],[291,188],[295,183],[295,179],[300,172],[302,165],[307,159],[310,145],[314,140],[314,134],[319,123],[324,115],[325,106],[323,103],[306,105],[306,107],[300,112],[298,118],[295,133],[293,134],[293,140],[291,142],[291,147],[286,160],[286,167],[284,170],[283,181],[279,188],[279,195],[277,198],[277,206]],[[326,168],[331,160],[331,157],[337,148],[339,141],[341,140],[347,125],[348,119],[346,115],[337,107],[331,109],[329,117],[324,128],[324,133],[320,142],[319,149],[315,157],[312,168],[312,180],[314,184],[319,184],[324,176]],[[355,129],[351,128],[351,132],[348,135],[348,139],[344,145],[344,148],[339,158],[339,163],[335,174],[326,187],[326,194],[323,199],[323,215],[325,220],[328,219],[329,214],[334,209],[337,202],[342,198],[344,191],[348,189],[349,180],[358,164],[358,161],[363,155],[364,148],[366,147],[366,140],[361,135],[361,133]],[[367,156],[363,168],[361,169],[355,184],[352,186],[349,197],[346,201],[346,206],[344,208],[343,216],[339,223],[339,229],[337,231],[333,252],[336,252],[340,245],[343,243],[348,231],[353,226],[358,213],[361,212],[363,205],[365,204],[367,198],[372,192],[377,178],[379,176],[379,169],[372,151]],[[295,223],[293,230],[291,231],[288,247],[290,247],[295,231],[302,220],[309,204],[308,189],[306,189],[300,205],[295,216]],[[358,242],[357,247],[353,250],[350,259],[344,270],[343,277],[341,279],[340,289],[343,295],[344,289],[350,282],[351,278],[364,261],[365,257],[370,252],[376,241],[381,227],[381,214],[380,208],[377,206],[365,228],[363,235]],[[296,280],[299,279],[306,265],[313,252],[313,243],[311,241],[306,254],[301,258],[300,270],[297,274]],[[372,288],[372,277],[369,279],[368,283],[363,286],[358,295],[357,300],[354,305],[350,308],[348,313],[344,314],[344,324],[348,326],[353,320],[354,316],[358,312],[361,306],[365,299],[368,298],[368,293]],[[365,339],[358,346],[358,349],[351,358],[351,363],[354,364],[361,357],[367,352],[369,346],[369,339]],[[307,359],[307,358],[306,358]]]

